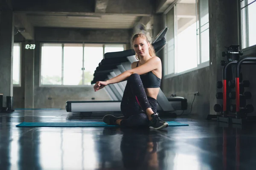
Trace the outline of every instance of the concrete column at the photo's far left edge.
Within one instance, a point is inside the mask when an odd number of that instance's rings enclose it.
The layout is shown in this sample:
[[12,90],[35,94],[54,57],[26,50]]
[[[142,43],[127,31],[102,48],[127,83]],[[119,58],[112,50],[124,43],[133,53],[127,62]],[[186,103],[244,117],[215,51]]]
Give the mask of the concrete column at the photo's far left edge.
[[13,96],[12,61],[14,40],[13,12],[9,9],[0,11],[0,93],[3,94],[3,107],[6,96]]

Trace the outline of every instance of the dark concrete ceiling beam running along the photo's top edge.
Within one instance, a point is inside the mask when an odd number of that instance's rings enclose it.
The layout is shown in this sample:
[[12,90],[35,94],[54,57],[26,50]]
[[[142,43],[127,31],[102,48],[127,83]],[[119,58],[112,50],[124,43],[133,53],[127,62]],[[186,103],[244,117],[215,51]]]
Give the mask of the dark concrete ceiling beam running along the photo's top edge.
[[105,12],[106,14],[150,15],[154,13],[154,0],[76,0],[72,3],[69,0],[13,0],[13,9],[15,11],[47,11],[76,14]]

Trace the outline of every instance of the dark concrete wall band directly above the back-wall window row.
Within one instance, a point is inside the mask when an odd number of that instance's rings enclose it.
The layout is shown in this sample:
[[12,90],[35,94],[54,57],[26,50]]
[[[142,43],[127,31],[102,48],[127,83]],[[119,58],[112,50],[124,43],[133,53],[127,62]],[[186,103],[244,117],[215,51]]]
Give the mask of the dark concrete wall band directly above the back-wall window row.
[[35,41],[129,43],[129,29],[35,28]]

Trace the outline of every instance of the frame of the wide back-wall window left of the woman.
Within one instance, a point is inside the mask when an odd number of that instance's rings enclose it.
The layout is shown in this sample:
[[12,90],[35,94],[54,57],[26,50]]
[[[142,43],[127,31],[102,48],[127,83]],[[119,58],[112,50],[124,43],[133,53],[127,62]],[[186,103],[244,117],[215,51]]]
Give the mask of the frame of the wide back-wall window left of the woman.
[[[41,83],[41,71],[42,71],[42,45],[43,44],[61,44],[62,46],[62,60],[61,60],[61,83],[62,85],[44,85]],[[95,42],[40,42],[40,68],[39,68],[39,87],[59,87],[59,88],[81,88],[81,87],[93,87],[93,85],[63,85],[63,64],[64,64],[64,61],[63,61],[63,57],[64,57],[64,44],[82,44],[83,45],[83,64],[82,66],[84,67],[84,47],[86,45],[102,45],[102,48],[103,48],[103,54],[102,54],[102,57],[104,57],[104,54],[105,54],[105,45],[123,45],[124,47],[124,50],[126,49],[126,44],[125,43],[95,43]],[[102,58],[103,59],[103,58]],[[96,68],[95,68],[96,69]],[[84,80],[82,80],[83,83],[84,83]]]

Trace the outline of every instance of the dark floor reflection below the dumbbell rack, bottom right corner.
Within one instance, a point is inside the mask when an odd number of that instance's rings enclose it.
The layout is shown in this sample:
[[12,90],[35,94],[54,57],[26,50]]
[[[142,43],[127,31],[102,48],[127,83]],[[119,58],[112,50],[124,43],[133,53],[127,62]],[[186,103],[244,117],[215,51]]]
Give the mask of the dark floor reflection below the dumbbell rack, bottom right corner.
[[222,169],[253,170],[256,166],[255,125],[227,125],[222,127]]

